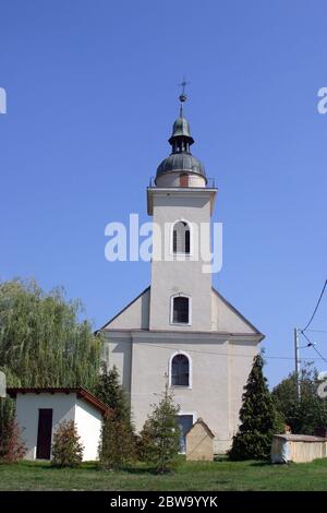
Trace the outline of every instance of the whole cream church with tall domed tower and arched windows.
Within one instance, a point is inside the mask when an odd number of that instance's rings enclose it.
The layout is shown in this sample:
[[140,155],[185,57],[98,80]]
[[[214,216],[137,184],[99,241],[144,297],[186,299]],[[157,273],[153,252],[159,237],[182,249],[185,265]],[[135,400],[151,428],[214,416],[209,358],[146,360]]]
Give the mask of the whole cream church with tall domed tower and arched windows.
[[202,418],[215,436],[215,453],[223,453],[238,430],[243,386],[264,335],[213,287],[207,272],[217,189],[191,153],[185,99],[182,94],[171,153],[146,191],[154,224],[150,285],[100,332],[136,431],[168,385],[180,405],[181,452],[185,433]]

